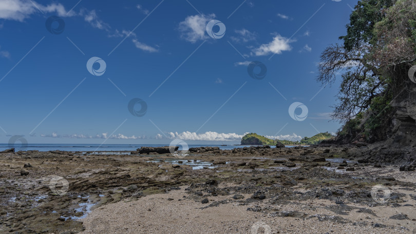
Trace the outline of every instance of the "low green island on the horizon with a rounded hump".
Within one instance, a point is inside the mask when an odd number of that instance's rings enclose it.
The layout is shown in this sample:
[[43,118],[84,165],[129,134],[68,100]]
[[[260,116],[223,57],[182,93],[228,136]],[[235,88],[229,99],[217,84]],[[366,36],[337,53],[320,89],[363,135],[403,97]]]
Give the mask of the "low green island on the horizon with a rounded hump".
[[249,133],[241,138],[241,145],[276,145],[278,142],[283,145],[314,145],[332,138],[333,135],[328,132],[321,132],[308,138],[305,136],[300,141],[289,140],[272,140],[257,133]]

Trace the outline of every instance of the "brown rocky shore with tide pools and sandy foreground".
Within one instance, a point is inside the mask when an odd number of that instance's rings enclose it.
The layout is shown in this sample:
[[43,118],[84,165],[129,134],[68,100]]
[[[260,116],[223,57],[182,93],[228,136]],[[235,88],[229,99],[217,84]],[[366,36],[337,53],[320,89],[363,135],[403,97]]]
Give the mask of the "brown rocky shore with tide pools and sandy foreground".
[[[416,231],[414,156],[406,148],[188,151],[0,152],[0,232],[106,233],[106,223],[108,233]],[[166,207],[192,218],[161,219]]]

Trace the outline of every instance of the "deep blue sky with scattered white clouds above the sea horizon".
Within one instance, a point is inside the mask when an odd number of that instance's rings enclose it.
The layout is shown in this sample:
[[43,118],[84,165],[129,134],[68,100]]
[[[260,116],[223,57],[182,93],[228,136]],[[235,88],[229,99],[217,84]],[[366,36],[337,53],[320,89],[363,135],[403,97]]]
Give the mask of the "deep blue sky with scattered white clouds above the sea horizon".
[[[0,142],[232,144],[246,132],[336,132],[338,83],[317,83],[317,63],[355,4],[0,0]],[[266,76],[253,79],[252,62]],[[132,99],[147,109],[129,111]]]

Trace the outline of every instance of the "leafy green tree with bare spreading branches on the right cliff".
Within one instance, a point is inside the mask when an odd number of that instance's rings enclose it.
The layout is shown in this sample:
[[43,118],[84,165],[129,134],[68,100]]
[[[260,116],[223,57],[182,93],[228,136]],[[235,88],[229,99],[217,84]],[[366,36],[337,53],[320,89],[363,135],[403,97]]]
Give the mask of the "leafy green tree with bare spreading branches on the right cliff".
[[366,130],[387,129],[399,108],[392,109],[392,101],[408,99],[415,87],[407,77],[416,61],[415,12],[413,0],[357,3],[347,35],[339,37],[343,45],[330,45],[320,56],[318,82],[332,84],[337,72],[343,72],[333,119],[345,123],[364,113]]

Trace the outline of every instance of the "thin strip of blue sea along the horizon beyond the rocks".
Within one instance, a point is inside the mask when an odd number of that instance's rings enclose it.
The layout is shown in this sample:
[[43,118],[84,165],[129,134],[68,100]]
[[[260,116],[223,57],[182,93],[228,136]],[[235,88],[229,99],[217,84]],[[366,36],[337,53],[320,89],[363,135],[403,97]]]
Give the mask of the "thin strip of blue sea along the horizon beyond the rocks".
[[[20,150],[39,150],[39,151],[50,151],[50,150],[62,150],[62,151],[71,151],[71,152],[88,152],[88,151],[135,151],[140,147],[162,147],[167,146],[165,144],[27,144],[21,145],[16,144],[14,146],[9,146],[9,144],[0,144],[0,151],[10,149],[12,147],[15,148],[15,151]],[[182,150],[182,146],[179,146],[179,150]],[[188,145],[189,148],[194,147],[219,147],[220,149],[234,149],[234,148],[242,148],[242,147],[249,147],[250,145]],[[271,148],[275,148],[276,146],[270,146]],[[293,146],[286,146],[286,147],[293,147]]]

